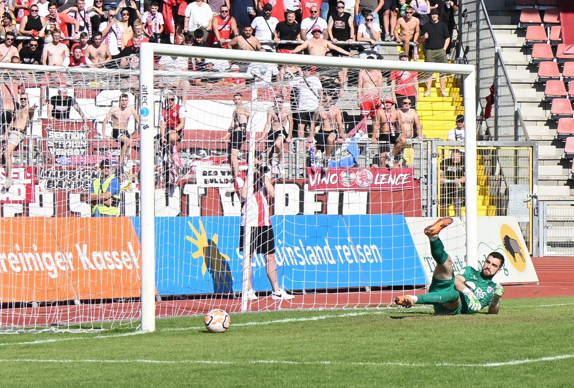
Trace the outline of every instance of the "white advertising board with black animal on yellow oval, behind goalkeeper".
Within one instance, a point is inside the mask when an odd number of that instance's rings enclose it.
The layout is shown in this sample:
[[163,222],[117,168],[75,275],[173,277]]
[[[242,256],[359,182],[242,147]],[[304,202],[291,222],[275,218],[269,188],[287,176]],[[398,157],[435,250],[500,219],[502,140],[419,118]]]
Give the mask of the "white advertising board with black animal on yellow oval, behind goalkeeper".
[[[423,233],[425,226],[435,222],[436,218],[417,217],[406,218],[409,230],[413,236],[417,252],[421,255],[421,263],[425,268],[428,281],[432,281],[432,273],[436,263],[430,255],[428,237]],[[452,225],[440,232],[440,239],[445,250],[451,256],[455,273],[466,266],[466,229],[460,218],[454,218]],[[538,282],[532,259],[526,249],[526,243],[514,217],[478,217],[478,254],[471,261],[478,262],[477,269],[482,268],[484,259],[490,252],[500,252],[505,256],[505,264],[501,272],[494,276],[498,283]]]

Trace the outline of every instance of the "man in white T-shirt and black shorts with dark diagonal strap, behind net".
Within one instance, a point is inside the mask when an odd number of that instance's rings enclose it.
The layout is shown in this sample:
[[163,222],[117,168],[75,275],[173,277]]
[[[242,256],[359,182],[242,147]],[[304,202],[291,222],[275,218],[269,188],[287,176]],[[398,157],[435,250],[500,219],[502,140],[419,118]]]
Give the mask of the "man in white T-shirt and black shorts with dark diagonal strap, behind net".
[[311,116],[319,108],[323,85],[317,76],[312,75],[310,66],[301,68],[303,76],[296,76],[290,80],[289,85],[299,90],[297,109],[293,113],[293,126],[297,125],[298,137],[305,137],[305,126],[311,126]]

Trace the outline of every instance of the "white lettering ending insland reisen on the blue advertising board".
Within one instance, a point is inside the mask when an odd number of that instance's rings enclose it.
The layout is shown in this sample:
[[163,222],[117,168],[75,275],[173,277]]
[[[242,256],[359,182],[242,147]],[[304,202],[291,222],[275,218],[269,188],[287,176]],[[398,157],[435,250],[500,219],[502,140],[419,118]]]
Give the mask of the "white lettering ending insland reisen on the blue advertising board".
[[[277,240],[275,258],[278,266],[318,266],[321,264],[358,264],[358,263],[382,263],[381,248],[377,245],[352,244],[347,237],[349,244],[329,245],[325,240],[324,245],[304,245],[299,239],[298,245],[285,245],[285,241]],[[243,252],[236,248],[239,259],[243,259]],[[251,267],[265,267],[265,256],[257,254],[251,260]]]

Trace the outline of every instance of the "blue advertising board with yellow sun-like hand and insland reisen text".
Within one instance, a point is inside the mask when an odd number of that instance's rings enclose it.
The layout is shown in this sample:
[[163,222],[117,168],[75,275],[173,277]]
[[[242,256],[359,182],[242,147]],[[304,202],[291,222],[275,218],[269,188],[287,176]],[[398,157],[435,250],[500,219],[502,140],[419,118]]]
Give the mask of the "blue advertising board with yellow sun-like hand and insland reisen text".
[[[139,233],[139,218],[133,222]],[[403,216],[273,216],[272,223],[286,289],[425,284]],[[158,293],[241,291],[238,236],[239,217],[156,218]],[[262,255],[252,267],[254,289],[271,290]]]

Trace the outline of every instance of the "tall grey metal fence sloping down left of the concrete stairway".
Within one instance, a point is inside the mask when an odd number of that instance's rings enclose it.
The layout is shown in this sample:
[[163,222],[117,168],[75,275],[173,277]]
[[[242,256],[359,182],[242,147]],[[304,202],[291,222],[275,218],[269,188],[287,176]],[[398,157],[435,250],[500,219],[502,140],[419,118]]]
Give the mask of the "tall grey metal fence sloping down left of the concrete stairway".
[[492,116],[484,119],[488,131],[486,135],[495,141],[530,140],[484,0],[465,0],[460,8],[466,9],[468,14],[463,23],[466,35],[463,45],[470,47],[466,56],[468,62],[476,65],[476,101],[483,117],[486,97],[494,85]]

